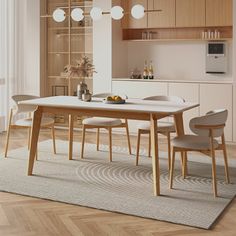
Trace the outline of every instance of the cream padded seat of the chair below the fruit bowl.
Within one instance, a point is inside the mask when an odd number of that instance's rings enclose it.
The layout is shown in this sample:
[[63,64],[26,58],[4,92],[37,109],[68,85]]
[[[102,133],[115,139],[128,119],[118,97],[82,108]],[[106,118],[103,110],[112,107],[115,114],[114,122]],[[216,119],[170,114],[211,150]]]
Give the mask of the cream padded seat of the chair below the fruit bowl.
[[122,124],[120,119],[106,118],[106,117],[91,117],[83,120],[83,125],[91,125],[98,127],[112,127]]

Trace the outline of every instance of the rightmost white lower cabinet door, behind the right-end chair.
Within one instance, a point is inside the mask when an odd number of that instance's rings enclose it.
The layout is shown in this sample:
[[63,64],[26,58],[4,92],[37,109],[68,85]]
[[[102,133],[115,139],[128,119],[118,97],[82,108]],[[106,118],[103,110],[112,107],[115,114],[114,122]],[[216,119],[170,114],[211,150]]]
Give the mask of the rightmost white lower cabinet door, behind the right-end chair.
[[215,109],[227,109],[228,119],[225,127],[225,138],[233,137],[233,86],[231,84],[200,85],[200,115]]

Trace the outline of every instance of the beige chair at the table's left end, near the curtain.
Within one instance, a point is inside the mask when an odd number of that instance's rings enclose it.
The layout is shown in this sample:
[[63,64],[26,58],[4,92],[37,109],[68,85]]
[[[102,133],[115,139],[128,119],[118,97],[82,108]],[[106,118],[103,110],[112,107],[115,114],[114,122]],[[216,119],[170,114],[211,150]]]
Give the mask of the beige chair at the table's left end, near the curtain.
[[[31,138],[30,137],[31,136],[31,127],[32,127],[32,123],[33,123],[33,120],[31,118],[31,113],[34,112],[36,107],[35,106],[22,105],[22,104],[19,104],[19,102],[24,101],[24,100],[35,99],[35,98],[39,98],[39,97],[31,96],[31,95],[15,95],[15,96],[12,96],[12,99],[15,102],[16,106],[10,110],[9,121],[8,121],[8,129],[7,129],[7,140],[6,140],[6,146],[5,146],[5,157],[7,157],[10,131],[11,131],[12,126],[20,126],[20,127],[29,128],[29,135],[28,135],[28,149],[29,149],[29,147],[30,147],[30,138]],[[19,119],[13,125],[12,124],[13,116],[17,115],[17,114],[21,114],[21,113],[27,113],[29,115],[29,117]],[[54,154],[56,154],[54,119],[49,118],[49,117],[43,117],[42,121],[41,121],[41,127],[48,127],[52,130],[53,151],[54,151]],[[36,154],[36,159],[37,159],[37,154]]]

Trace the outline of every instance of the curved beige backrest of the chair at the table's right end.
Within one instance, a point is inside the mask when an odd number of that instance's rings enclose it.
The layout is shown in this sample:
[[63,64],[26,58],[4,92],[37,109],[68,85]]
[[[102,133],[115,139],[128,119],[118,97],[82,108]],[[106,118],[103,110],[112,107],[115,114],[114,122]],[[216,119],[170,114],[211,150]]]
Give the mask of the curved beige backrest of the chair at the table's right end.
[[[189,127],[193,133],[200,136],[209,136],[209,130],[198,129],[196,125],[222,125],[226,123],[228,111],[226,109],[219,109],[209,111],[205,116],[195,117],[190,120]],[[224,132],[224,128],[214,129],[213,137],[220,137]]]

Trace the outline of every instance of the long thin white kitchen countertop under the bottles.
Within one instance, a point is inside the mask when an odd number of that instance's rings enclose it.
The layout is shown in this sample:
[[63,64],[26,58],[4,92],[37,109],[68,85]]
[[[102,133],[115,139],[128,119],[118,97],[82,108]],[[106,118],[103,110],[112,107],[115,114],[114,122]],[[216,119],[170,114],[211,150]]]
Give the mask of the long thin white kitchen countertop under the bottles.
[[132,81],[132,82],[166,82],[166,83],[201,83],[201,84],[233,84],[233,80],[178,80],[178,79],[130,79],[112,78],[112,81]]

